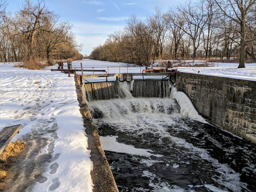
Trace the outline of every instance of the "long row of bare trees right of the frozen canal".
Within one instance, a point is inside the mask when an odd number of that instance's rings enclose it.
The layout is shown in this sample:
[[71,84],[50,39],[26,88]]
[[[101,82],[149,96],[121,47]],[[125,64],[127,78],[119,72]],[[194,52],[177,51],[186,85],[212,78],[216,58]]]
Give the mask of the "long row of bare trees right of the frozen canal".
[[162,59],[255,62],[256,0],[197,0],[145,20],[131,15],[123,30],[93,48],[91,59],[151,65]]

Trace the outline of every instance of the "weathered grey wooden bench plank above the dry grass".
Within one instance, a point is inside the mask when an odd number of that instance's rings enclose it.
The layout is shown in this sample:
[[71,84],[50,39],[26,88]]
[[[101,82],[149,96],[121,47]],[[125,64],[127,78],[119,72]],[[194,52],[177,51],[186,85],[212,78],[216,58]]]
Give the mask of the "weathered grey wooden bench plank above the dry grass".
[[14,135],[19,132],[21,124],[5,127],[0,131],[0,154],[5,150],[8,143],[13,139]]

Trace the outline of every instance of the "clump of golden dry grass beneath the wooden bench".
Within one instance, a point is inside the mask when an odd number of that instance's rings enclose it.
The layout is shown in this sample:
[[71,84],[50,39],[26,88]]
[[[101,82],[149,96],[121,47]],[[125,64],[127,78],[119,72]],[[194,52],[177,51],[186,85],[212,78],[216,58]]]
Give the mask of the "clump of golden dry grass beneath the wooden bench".
[[3,153],[0,155],[0,179],[7,176],[11,163],[14,163],[14,159],[25,147],[25,143],[22,141],[15,141],[9,143]]

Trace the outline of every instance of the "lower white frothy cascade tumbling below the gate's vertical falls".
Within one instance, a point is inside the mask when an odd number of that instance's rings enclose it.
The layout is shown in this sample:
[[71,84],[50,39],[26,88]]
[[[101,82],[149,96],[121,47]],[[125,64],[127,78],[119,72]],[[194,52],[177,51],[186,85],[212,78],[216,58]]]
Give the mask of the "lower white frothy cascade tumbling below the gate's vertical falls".
[[[123,119],[124,115],[132,117],[134,114],[172,114],[179,113],[180,107],[171,98],[130,98],[89,103],[91,115],[107,118],[110,122]],[[125,121],[123,119],[123,121]],[[131,123],[131,122],[130,122]],[[135,125],[134,125],[135,126]]]

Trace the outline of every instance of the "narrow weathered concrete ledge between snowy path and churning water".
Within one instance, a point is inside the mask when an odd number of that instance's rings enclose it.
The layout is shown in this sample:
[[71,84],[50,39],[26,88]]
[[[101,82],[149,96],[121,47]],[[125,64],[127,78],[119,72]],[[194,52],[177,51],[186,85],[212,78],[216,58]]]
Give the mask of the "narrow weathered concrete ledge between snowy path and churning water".
[[85,88],[80,86],[80,78],[75,76],[75,86],[77,90],[77,100],[80,106],[80,112],[83,117],[85,131],[88,137],[88,148],[91,150],[91,161],[93,162],[93,170],[91,178],[93,181],[94,192],[118,192],[115,179],[107,162],[107,158],[102,149],[97,129],[91,117],[90,110],[86,104],[83,93]]

